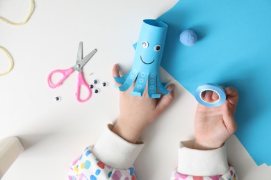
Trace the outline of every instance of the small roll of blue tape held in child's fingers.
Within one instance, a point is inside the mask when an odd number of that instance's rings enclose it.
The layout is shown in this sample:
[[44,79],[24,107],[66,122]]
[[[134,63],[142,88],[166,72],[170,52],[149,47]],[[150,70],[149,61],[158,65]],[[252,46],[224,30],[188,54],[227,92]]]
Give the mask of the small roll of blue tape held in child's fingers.
[[[202,93],[204,91],[214,91],[219,96],[219,99],[215,100],[215,102],[204,101],[202,99]],[[195,98],[200,104],[206,107],[218,107],[223,105],[224,101],[226,100],[226,93],[222,87],[216,84],[202,84],[199,87],[197,87],[195,91]]]

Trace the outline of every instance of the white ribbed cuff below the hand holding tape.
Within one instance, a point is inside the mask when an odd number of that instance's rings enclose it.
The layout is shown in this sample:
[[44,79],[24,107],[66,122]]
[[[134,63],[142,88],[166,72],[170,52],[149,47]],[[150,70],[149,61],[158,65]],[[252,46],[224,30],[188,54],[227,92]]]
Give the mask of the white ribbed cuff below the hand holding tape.
[[189,148],[193,141],[183,141],[179,147],[178,172],[192,176],[216,176],[229,170],[226,146],[215,150]]

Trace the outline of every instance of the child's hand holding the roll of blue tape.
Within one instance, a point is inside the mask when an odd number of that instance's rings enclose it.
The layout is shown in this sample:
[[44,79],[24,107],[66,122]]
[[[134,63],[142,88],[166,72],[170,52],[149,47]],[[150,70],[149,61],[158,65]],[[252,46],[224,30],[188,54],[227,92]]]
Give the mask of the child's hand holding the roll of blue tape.
[[[238,91],[233,87],[224,89],[227,100],[220,107],[197,106],[195,116],[195,149],[211,150],[222,147],[223,143],[236,132],[234,114],[238,102]],[[217,93],[206,91],[204,100],[217,100]]]

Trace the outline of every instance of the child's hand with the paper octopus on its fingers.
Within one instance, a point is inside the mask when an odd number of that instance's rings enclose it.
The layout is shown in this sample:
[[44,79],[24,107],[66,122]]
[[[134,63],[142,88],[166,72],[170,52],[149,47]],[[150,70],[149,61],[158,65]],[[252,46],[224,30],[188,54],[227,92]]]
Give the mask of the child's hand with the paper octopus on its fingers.
[[[120,77],[119,66],[113,66],[113,76]],[[121,84],[115,84],[119,87]],[[172,89],[174,85],[170,85],[168,89]],[[127,91],[120,91],[120,118],[113,127],[113,132],[118,134],[126,141],[136,143],[140,134],[158,116],[165,111],[174,99],[174,89],[159,99],[149,98],[147,87],[142,97],[132,96],[134,84]]]

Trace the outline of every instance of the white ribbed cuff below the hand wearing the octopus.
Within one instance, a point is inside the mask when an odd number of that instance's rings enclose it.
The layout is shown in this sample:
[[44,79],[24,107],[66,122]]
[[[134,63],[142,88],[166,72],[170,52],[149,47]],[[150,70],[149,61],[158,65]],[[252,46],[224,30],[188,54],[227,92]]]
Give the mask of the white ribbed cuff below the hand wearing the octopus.
[[101,162],[110,165],[112,168],[131,168],[144,144],[129,143],[113,133],[110,130],[112,128],[113,125],[108,125],[106,132],[99,137],[93,147],[93,154]]

